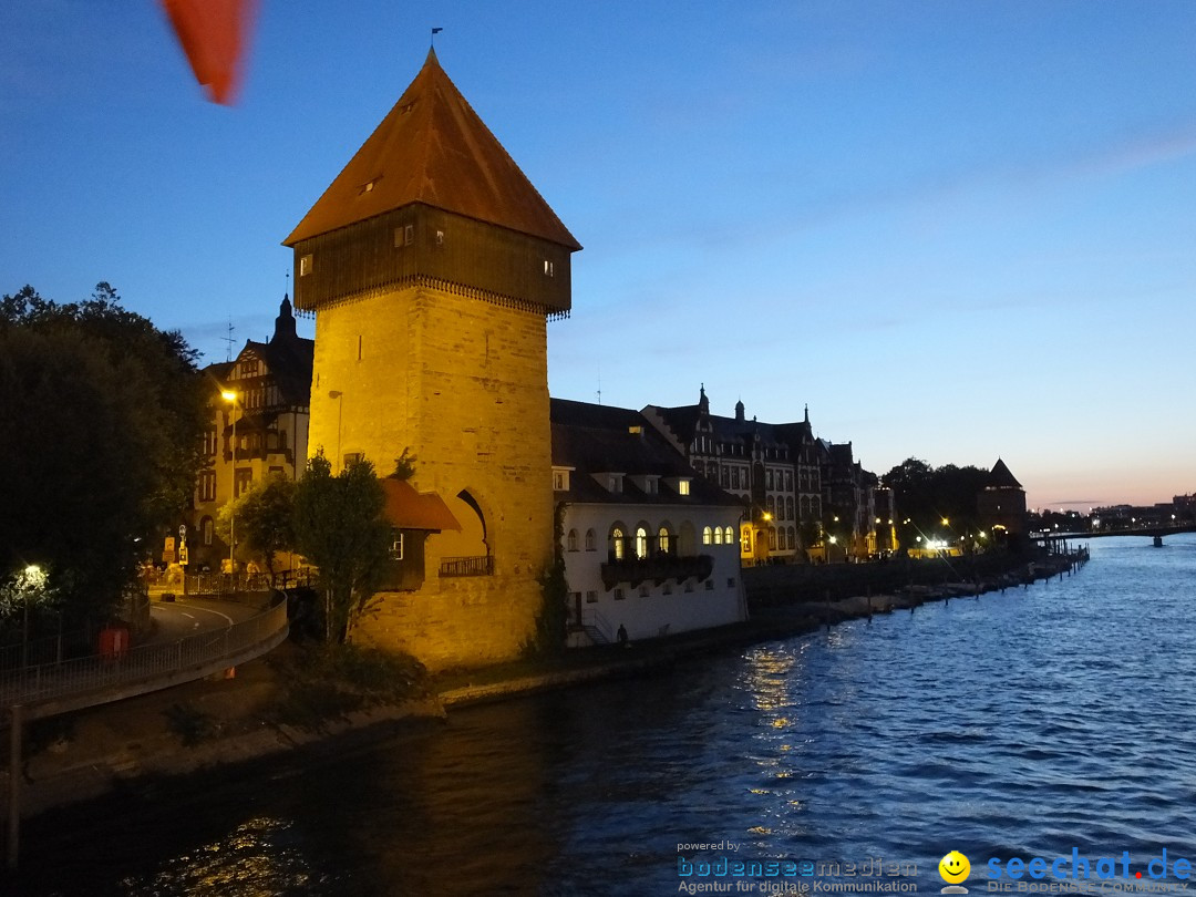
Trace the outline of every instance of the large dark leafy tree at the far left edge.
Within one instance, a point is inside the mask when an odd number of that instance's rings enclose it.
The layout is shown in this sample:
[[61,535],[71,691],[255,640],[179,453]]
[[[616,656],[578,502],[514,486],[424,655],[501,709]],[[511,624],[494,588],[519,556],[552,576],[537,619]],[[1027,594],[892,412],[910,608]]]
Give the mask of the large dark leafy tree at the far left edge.
[[48,565],[68,614],[114,604],[184,509],[207,426],[196,353],[108,283],[0,299],[0,576]]

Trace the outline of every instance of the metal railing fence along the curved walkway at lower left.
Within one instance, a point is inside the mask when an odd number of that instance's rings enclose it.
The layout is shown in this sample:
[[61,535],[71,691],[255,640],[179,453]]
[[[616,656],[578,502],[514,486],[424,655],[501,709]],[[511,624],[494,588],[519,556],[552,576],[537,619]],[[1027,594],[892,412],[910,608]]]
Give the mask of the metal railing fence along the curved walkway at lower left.
[[209,666],[270,640],[286,626],[287,603],[285,597],[279,596],[270,608],[257,616],[225,629],[188,635],[165,645],[142,645],[120,653],[2,670],[0,706],[35,704]]

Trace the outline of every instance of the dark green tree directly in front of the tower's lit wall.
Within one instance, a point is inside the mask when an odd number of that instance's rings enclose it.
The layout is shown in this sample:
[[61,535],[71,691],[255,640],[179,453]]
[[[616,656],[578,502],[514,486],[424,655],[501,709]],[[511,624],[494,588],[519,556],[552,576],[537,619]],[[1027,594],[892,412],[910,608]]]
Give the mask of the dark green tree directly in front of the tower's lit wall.
[[373,597],[390,547],[385,504],[365,459],[332,476],[331,464],[317,454],[295,486],[295,548],[319,568],[328,641],[343,642]]

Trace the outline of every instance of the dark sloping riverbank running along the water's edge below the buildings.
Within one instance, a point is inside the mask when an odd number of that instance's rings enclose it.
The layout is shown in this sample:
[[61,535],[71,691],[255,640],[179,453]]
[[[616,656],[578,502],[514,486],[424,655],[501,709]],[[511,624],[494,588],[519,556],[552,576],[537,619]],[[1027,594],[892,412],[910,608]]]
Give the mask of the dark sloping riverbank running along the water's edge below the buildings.
[[[616,677],[635,677],[688,657],[726,651],[874,614],[916,610],[930,600],[951,600],[984,592],[1029,587],[1031,576],[1068,575],[1075,556],[1048,556],[989,579],[908,585],[878,594],[783,602],[773,594],[755,606],[752,620],[732,627],[629,647],[599,646],[567,652],[551,661],[514,661],[440,675],[427,694],[397,703],[350,710],[330,707],[318,719],[287,725],[271,708],[283,696],[288,673],[279,658],[237,669],[236,678],[190,683],[120,703],[43,721],[31,728],[22,770],[23,814],[99,797],[139,780],[194,774],[205,769],[283,755],[297,749],[335,751],[346,740],[393,731],[415,720],[444,720],[448,709],[498,701],[547,689]],[[745,572],[748,573],[748,572]],[[298,651],[282,646],[286,652]],[[321,708],[316,708],[317,713]],[[7,775],[7,774],[6,774]],[[5,776],[6,777],[6,776]],[[0,783],[6,788],[7,782]],[[6,788],[7,789],[7,788]]]

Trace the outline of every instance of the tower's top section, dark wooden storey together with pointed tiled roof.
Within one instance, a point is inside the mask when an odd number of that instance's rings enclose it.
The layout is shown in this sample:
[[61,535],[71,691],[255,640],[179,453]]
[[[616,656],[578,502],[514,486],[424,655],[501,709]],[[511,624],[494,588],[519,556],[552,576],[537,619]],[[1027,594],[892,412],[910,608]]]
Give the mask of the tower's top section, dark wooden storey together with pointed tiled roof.
[[283,245],[298,309],[428,282],[549,315],[581,249],[434,51]]

